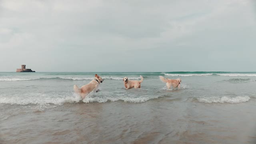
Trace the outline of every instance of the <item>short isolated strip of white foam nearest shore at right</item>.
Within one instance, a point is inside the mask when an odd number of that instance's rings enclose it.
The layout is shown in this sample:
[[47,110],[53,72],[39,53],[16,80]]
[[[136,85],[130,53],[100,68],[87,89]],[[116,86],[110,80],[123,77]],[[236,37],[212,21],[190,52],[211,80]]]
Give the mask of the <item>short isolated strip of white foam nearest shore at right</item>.
[[205,102],[205,103],[240,103],[240,102],[247,102],[250,100],[249,96],[235,96],[235,97],[230,97],[230,96],[222,96],[222,97],[217,97],[217,96],[212,96],[212,97],[202,97],[202,98],[197,98],[199,102]]

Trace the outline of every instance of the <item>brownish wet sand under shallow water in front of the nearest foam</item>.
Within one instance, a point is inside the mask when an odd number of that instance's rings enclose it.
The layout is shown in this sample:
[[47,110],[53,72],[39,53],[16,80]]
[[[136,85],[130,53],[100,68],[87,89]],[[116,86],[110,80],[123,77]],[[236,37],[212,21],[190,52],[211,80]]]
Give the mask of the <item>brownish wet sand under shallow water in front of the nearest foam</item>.
[[256,100],[202,103],[163,97],[143,103],[3,104],[1,144],[255,144]]

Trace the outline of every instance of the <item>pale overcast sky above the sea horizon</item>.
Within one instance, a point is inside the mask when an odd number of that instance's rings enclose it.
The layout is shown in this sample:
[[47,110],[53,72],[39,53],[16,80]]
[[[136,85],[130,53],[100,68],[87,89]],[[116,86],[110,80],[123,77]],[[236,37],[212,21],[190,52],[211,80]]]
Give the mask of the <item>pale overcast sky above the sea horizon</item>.
[[0,72],[256,72],[254,0],[0,0]]

